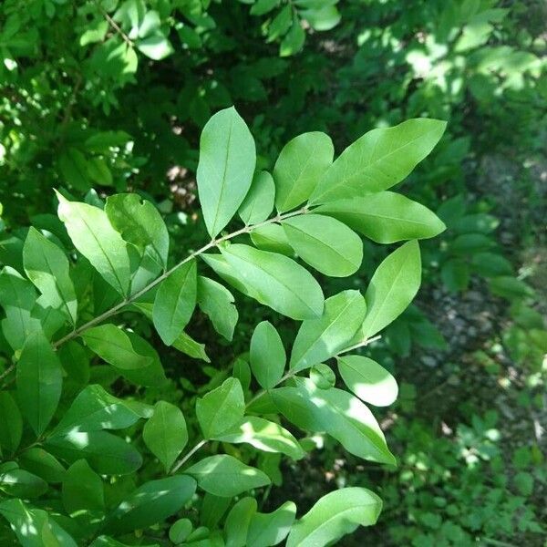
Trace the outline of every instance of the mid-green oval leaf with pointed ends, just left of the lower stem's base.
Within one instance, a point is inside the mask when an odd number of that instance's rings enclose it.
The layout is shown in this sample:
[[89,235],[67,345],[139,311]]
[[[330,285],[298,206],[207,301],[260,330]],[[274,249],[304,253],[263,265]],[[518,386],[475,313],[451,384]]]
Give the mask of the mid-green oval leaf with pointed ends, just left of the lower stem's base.
[[156,403],[154,414],[142,430],[142,439],[169,472],[188,442],[188,430],[181,410],[166,401]]

